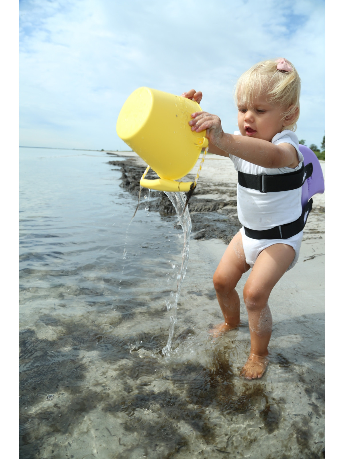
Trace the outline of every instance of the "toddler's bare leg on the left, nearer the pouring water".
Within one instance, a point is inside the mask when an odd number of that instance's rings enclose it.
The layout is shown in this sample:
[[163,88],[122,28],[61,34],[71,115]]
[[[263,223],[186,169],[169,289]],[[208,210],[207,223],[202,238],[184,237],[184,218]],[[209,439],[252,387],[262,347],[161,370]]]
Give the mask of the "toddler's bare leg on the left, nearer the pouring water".
[[218,336],[239,325],[240,300],[234,289],[248,269],[250,266],[245,261],[241,233],[238,232],[223,254],[213,277],[217,300],[225,321],[211,330],[212,335]]

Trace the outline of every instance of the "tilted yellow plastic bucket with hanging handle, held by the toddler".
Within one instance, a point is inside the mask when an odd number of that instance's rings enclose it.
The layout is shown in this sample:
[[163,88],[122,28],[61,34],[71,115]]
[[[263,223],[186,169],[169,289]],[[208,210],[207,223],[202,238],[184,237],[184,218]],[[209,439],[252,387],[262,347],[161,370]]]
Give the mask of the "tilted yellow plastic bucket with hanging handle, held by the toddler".
[[196,133],[189,126],[191,113],[201,110],[195,101],[146,87],[129,95],[118,115],[117,134],[160,177],[141,179],[141,186],[189,191],[193,182],[175,180],[190,172],[208,146],[205,131]]

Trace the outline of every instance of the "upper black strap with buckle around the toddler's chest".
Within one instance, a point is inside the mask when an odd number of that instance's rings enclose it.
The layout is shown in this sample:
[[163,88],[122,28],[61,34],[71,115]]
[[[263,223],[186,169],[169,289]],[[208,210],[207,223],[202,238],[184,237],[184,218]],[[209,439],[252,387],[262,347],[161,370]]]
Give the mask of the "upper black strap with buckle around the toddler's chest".
[[288,172],[287,174],[245,174],[238,171],[238,183],[245,188],[259,190],[261,193],[269,191],[288,191],[300,188],[305,182],[305,179],[311,177],[313,172],[313,164],[310,162],[306,166],[302,163],[302,167],[296,172]]

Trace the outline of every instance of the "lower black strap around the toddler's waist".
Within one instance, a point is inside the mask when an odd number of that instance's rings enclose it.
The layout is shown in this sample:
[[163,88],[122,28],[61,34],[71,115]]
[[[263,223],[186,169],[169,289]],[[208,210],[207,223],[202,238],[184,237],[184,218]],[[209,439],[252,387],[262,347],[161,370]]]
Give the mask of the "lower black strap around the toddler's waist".
[[311,212],[313,199],[308,201],[308,204],[304,207],[300,217],[294,222],[287,223],[280,226],[275,226],[271,229],[250,229],[244,226],[245,235],[252,239],[289,239],[289,237],[300,233],[305,228],[307,217]]

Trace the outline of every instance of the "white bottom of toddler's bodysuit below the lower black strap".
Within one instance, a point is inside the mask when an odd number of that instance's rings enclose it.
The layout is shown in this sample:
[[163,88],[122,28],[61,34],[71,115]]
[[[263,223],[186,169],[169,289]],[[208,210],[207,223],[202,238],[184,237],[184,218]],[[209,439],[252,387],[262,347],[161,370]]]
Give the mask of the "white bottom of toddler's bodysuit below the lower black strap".
[[295,257],[287,271],[292,269],[299,259],[303,230],[300,231],[300,233],[289,237],[289,239],[252,239],[245,235],[244,227],[240,228],[240,233],[243,240],[246,263],[249,264],[251,268],[253,268],[255,260],[261,251],[266,249],[266,247],[272,246],[273,244],[288,244],[289,246],[293,247],[295,251]]

